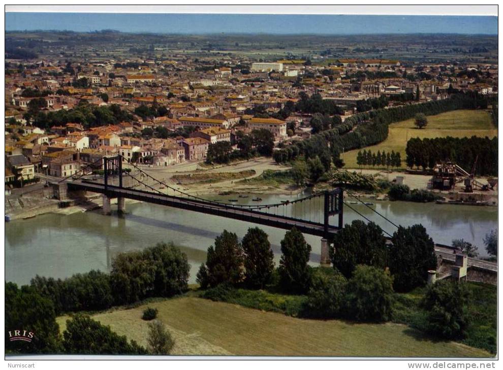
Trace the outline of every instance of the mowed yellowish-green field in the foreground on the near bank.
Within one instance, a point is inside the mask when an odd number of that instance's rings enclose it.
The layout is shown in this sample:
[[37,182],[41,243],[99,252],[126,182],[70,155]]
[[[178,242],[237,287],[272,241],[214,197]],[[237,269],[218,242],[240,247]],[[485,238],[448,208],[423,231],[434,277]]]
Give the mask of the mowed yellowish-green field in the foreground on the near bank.
[[[172,332],[175,355],[489,357],[454,342],[433,342],[400,324],[306,320],[191,296],[92,316],[146,346],[147,307],[159,310]],[[68,317],[57,319],[60,331]]]

